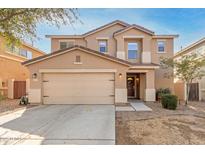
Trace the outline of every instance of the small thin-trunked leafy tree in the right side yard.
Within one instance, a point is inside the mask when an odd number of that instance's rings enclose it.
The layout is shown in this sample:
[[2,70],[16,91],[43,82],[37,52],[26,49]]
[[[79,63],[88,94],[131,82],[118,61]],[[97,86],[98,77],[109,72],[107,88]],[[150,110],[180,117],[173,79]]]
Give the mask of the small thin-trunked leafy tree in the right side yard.
[[186,84],[185,104],[188,104],[190,86],[193,80],[201,79],[205,76],[202,67],[205,66],[205,56],[197,53],[184,55],[178,60],[173,58],[162,58],[161,66],[164,69],[172,68],[174,72],[168,72],[168,76],[175,76]]

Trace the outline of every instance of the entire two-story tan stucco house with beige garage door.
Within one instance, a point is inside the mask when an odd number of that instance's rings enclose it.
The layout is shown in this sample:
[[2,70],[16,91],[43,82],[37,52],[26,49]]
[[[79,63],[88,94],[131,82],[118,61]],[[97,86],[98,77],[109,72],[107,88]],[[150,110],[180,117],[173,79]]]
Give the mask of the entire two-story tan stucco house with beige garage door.
[[178,35],[155,35],[113,21],[82,35],[48,35],[51,53],[23,64],[30,70],[29,99],[43,104],[114,104],[155,101],[158,88],[174,90],[160,57],[173,57]]

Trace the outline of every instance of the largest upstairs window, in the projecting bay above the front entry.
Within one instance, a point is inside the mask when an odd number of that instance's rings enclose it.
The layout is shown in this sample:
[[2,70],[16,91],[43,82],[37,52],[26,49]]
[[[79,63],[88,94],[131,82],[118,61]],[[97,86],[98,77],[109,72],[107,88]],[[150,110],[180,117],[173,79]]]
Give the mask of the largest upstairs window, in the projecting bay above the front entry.
[[128,59],[138,58],[138,43],[128,43]]

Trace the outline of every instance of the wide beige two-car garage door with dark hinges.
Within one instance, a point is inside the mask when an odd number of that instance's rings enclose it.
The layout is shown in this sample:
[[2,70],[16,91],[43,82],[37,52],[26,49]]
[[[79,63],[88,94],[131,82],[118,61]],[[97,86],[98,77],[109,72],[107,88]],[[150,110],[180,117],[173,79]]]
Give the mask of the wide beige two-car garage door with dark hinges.
[[113,104],[114,73],[43,75],[44,104]]

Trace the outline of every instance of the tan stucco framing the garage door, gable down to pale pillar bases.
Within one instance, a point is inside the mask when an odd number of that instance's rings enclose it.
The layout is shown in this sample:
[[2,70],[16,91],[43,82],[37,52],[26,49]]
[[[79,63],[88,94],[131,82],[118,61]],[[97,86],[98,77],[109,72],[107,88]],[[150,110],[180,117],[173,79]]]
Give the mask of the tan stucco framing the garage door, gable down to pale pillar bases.
[[[75,64],[75,57],[77,55],[81,56],[82,64]],[[95,65],[93,65],[95,64]],[[39,69],[116,69],[117,74],[122,73],[122,78],[115,77],[115,87],[116,88],[126,88],[126,83],[121,82],[125,80],[126,71],[128,66],[117,64],[111,62],[110,60],[96,57],[95,55],[85,53],[83,51],[74,50],[69,53],[62,54],[60,56],[55,56],[53,58],[28,65],[30,70],[30,75],[37,73],[38,81],[41,81],[41,73]],[[38,89],[41,86],[41,82],[31,81],[31,88]]]

